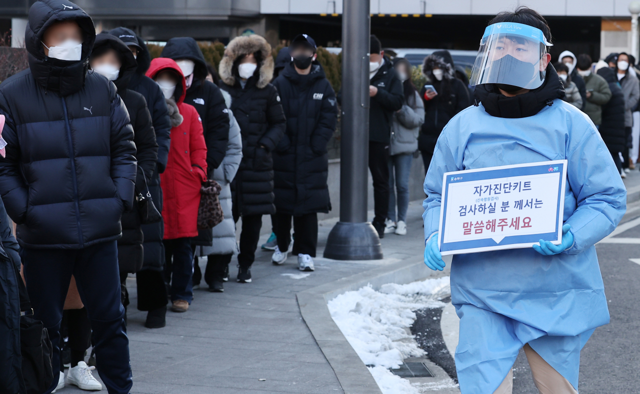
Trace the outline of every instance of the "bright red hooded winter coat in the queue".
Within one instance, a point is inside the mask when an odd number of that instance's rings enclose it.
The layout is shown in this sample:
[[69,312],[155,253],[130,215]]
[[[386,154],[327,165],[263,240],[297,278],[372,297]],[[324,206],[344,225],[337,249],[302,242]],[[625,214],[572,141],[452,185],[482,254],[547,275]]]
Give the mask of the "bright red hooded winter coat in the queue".
[[186,83],[175,61],[168,58],[153,59],[147,77],[153,79],[166,69],[175,71],[181,77],[182,83],[176,86],[174,97],[178,97],[178,111],[184,119],[171,129],[169,158],[164,173],[160,174],[164,194],[164,239],[196,237],[200,184],[207,180],[207,146],[198,112],[183,102]]

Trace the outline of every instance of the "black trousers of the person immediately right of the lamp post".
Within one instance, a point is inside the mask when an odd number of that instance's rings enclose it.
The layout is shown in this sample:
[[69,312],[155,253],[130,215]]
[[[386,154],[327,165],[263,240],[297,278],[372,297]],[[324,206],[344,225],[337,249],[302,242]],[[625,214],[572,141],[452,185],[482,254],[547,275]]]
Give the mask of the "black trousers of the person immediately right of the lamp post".
[[374,221],[384,223],[389,211],[389,144],[369,141],[369,171],[373,178]]

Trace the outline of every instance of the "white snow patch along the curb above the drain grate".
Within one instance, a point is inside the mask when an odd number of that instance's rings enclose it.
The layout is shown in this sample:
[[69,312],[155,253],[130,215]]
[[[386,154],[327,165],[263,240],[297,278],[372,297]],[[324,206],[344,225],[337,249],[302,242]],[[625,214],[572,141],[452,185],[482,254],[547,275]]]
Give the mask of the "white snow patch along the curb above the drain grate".
[[417,386],[392,374],[403,360],[424,356],[406,328],[416,319],[414,310],[439,308],[449,294],[449,277],[397,285],[388,283],[340,294],[329,301],[333,321],[347,338],[384,394],[420,394]]

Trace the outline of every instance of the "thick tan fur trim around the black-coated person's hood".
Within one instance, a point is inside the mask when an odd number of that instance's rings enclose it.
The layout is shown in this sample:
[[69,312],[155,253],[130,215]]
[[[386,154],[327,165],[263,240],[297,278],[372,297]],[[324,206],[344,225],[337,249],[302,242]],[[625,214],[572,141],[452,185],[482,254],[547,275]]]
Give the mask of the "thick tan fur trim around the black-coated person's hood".
[[234,86],[239,79],[236,60],[255,52],[260,52],[262,60],[252,78],[258,77],[255,83],[257,88],[262,89],[267,86],[273,79],[273,56],[271,56],[271,45],[259,35],[239,36],[228,43],[219,68],[223,83]]

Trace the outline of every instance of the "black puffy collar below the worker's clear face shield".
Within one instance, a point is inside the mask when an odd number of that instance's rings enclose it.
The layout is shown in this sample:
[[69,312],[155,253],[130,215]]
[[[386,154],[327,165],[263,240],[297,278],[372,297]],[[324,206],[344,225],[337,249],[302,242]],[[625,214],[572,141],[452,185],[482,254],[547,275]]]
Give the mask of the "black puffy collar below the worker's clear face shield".
[[506,97],[499,93],[494,84],[480,84],[474,90],[476,100],[482,102],[484,111],[498,118],[526,118],[551,106],[553,100],[564,97],[564,86],[556,69],[549,63],[547,75],[540,88],[522,95]]

